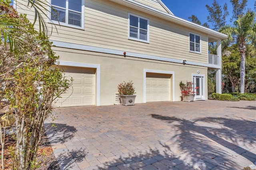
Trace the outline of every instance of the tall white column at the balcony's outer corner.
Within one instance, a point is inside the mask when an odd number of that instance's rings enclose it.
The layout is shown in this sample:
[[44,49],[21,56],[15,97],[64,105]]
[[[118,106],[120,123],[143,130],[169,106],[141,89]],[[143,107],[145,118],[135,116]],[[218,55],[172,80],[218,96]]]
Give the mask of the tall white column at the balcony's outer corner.
[[219,56],[220,69],[216,69],[216,93],[221,94],[221,40],[217,41],[217,55]]

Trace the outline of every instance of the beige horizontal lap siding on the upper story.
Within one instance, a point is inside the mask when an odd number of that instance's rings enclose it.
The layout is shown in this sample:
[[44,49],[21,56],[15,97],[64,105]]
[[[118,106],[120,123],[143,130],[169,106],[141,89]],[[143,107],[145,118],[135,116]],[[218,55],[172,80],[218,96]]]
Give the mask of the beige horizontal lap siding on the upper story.
[[[154,3],[149,0],[146,1]],[[128,13],[149,19],[149,43],[128,40]],[[32,12],[27,12],[27,14],[28,18],[34,20]],[[56,29],[53,29],[50,39],[208,63],[208,40],[206,34],[166,22],[166,20],[110,1],[86,0],[84,23],[84,30],[56,25],[58,33]],[[189,32],[202,36],[201,54],[189,52]]]

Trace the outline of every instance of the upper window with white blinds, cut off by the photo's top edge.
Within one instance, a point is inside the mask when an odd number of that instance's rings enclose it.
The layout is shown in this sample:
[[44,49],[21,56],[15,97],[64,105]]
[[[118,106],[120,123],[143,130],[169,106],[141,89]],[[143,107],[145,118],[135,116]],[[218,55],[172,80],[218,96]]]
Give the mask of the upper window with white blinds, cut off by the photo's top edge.
[[51,20],[62,25],[83,27],[83,0],[51,0]]

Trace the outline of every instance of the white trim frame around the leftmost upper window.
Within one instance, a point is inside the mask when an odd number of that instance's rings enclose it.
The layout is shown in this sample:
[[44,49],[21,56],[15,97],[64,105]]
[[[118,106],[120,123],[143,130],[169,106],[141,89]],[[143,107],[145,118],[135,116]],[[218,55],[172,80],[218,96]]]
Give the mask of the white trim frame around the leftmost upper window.
[[[65,23],[58,22],[58,21],[55,21],[55,20],[51,20],[52,0],[49,0],[50,6],[48,7],[48,23],[57,24],[57,25],[60,25],[60,26],[71,27],[71,28],[77,28],[77,29],[80,29],[80,30],[84,30],[84,0],[81,0],[81,1],[82,1],[82,6],[81,6],[81,8],[82,8],[82,10],[81,10],[81,27],[67,24],[68,23],[68,17],[66,17]],[[68,0],[66,0],[66,3],[68,3]],[[73,10],[70,10],[70,11],[73,11]],[[66,14],[67,13],[68,13],[68,10],[66,10]]]

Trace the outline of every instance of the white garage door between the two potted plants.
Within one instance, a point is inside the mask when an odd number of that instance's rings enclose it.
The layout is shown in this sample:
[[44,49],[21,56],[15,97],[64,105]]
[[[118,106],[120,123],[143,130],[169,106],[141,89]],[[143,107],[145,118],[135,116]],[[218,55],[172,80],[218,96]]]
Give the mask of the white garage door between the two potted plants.
[[146,102],[170,101],[170,77],[168,74],[146,73]]

